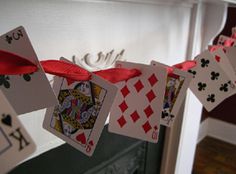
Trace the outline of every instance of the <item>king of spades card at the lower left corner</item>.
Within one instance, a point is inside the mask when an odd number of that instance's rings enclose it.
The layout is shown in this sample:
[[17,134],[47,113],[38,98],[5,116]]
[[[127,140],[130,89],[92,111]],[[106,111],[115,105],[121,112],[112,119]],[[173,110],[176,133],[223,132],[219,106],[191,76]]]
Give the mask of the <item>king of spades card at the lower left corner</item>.
[[0,90],[0,173],[29,157],[36,146]]

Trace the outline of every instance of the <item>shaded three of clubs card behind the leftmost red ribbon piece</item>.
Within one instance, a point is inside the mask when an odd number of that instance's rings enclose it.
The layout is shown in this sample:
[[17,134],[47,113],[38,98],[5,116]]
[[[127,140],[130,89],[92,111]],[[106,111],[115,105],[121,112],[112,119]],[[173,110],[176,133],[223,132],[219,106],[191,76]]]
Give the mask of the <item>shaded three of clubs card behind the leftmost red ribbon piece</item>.
[[23,27],[2,35],[0,50],[22,56],[38,66],[38,71],[33,74],[0,75],[0,90],[18,115],[57,104],[56,96]]

